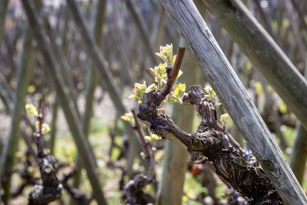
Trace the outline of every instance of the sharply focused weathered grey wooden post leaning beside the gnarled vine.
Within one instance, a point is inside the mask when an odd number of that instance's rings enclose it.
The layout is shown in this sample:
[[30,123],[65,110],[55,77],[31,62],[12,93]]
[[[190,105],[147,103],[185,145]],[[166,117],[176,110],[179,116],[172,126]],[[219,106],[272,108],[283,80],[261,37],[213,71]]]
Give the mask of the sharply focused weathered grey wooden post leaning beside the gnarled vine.
[[286,159],[193,2],[161,2],[283,201],[307,204]]

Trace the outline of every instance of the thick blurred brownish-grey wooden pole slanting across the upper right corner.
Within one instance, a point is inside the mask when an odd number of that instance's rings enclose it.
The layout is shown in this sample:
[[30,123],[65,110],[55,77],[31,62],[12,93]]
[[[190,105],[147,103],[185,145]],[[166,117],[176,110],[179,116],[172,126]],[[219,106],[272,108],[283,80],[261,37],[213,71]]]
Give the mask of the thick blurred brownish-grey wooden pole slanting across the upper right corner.
[[203,2],[307,129],[307,81],[282,49],[242,2],[238,0],[203,0]]

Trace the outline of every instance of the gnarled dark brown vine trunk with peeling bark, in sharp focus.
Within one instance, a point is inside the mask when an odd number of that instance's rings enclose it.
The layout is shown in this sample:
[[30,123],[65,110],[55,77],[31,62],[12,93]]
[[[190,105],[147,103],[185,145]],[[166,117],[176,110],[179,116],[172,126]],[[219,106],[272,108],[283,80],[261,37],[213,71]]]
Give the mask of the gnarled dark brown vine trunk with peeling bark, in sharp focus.
[[223,132],[216,131],[216,106],[204,96],[199,86],[191,86],[188,101],[195,104],[202,117],[195,133],[186,133],[177,127],[168,116],[157,114],[153,102],[156,92],[150,90],[143,94],[138,117],[154,134],[169,139],[188,152],[204,156],[204,161],[212,161],[216,173],[221,175],[241,194],[252,199],[251,204],[283,204],[265,172],[252,167],[240,158],[239,151],[229,144]]

